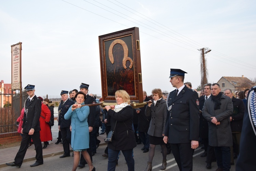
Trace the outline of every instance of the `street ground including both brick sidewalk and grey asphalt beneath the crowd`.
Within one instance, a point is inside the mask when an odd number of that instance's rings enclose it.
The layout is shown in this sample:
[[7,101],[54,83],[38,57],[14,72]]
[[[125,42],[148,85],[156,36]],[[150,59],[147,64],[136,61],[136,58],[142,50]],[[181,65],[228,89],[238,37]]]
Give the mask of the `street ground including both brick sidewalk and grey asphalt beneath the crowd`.
[[[57,141],[56,137],[58,136],[58,129],[57,129],[57,121],[55,120],[55,125],[53,127],[53,138],[54,142]],[[97,153],[93,157],[93,164],[96,168],[96,170],[107,170],[108,166],[108,159],[102,157],[101,155],[104,153],[104,149],[106,145],[104,145],[104,138],[106,134],[100,135],[98,139],[101,140],[100,146],[97,148]],[[31,147],[28,148],[27,154],[25,156],[25,161],[23,162],[22,167],[20,170],[28,170],[28,171],[34,171],[34,170],[39,170],[39,171],[69,171],[72,169],[73,166],[73,157],[66,157],[66,158],[59,158],[60,155],[63,153],[63,148],[61,144],[50,144],[46,149],[43,149],[43,155],[44,155],[44,164],[40,165],[35,168],[31,168],[30,165],[32,165],[35,160],[35,151],[33,150],[34,146],[32,145]],[[135,170],[136,171],[142,171],[146,168],[147,166],[147,160],[148,160],[148,153],[143,153],[141,151],[141,148],[143,147],[142,144],[137,145],[136,148],[134,148],[134,160],[135,160]],[[16,170],[16,167],[8,167],[4,163],[5,162],[12,162],[16,153],[18,151],[18,147],[11,147],[8,149],[1,149],[0,150],[0,164],[2,168],[0,168],[1,171],[13,171]],[[160,170],[161,167],[161,162],[162,162],[162,155],[161,155],[161,148],[158,145],[156,147],[155,151],[155,156],[153,159],[153,170]],[[3,154],[5,153],[5,154]],[[217,169],[217,164],[216,162],[212,163],[212,169],[206,169],[206,157],[202,158],[200,155],[203,153],[203,149],[200,147],[195,150],[194,154],[194,159],[193,159],[193,170],[196,171],[205,171],[205,170],[216,170]],[[72,153],[71,153],[72,156]],[[9,159],[7,159],[9,157]],[[174,157],[172,153],[170,155],[167,155],[167,169],[166,170],[172,170],[172,171],[179,171],[179,168],[176,165],[176,162],[174,160]],[[236,160],[235,160],[236,162]],[[6,167],[5,167],[6,166]],[[78,168],[77,170],[88,170],[88,166],[86,166],[83,169]],[[116,167],[117,171],[126,171],[127,170],[127,165],[125,163],[124,156],[120,155],[120,158],[118,160],[118,166]],[[235,166],[231,166],[230,171],[234,171]]]

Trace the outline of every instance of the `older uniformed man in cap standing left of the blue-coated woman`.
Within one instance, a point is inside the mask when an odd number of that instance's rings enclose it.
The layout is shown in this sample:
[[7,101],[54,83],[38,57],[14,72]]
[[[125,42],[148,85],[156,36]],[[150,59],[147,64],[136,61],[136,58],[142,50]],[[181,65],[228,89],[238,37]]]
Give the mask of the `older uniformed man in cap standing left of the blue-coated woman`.
[[70,131],[71,119],[66,120],[64,118],[64,115],[68,112],[70,106],[72,106],[75,103],[73,102],[73,100],[68,98],[68,91],[62,90],[60,92],[60,95],[61,95],[61,101],[58,108],[58,111],[59,111],[58,127],[61,132],[64,154],[59,158],[64,158],[64,157],[70,156],[69,144],[71,143],[71,131]]

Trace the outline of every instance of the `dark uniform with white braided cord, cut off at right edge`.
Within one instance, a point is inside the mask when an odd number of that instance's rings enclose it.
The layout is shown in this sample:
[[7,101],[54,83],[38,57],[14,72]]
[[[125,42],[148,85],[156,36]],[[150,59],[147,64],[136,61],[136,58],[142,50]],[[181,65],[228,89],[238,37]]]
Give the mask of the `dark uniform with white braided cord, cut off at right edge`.
[[255,171],[256,169],[256,86],[248,92],[245,104],[240,153],[236,171]]

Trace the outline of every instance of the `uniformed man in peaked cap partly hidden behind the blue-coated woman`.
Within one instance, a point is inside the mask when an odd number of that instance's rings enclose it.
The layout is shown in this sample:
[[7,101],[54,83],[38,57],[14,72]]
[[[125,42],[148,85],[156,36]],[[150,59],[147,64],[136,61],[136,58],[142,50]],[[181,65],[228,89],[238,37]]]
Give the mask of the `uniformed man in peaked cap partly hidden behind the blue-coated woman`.
[[[83,93],[86,95],[86,99],[84,101],[84,104],[94,104],[94,103],[96,103],[95,98],[92,97],[92,96],[89,96],[89,94],[88,94],[88,88],[89,88],[88,84],[81,83],[79,88],[80,88],[80,91],[83,91]],[[89,155],[91,157],[91,161],[93,161],[94,153],[93,153],[92,150],[95,149],[95,152],[96,152],[96,133],[97,133],[97,129],[94,128],[95,119],[97,119],[95,117],[96,116],[96,106],[89,106],[89,108],[90,108],[90,113],[89,113],[87,122],[88,122],[88,126],[89,126],[89,136],[90,136],[89,147],[90,148],[87,149],[87,152],[89,153]],[[79,163],[78,167],[83,168],[83,167],[85,167],[85,164],[87,164],[87,163],[86,163],[83,155],[81,155],[80,163]]]

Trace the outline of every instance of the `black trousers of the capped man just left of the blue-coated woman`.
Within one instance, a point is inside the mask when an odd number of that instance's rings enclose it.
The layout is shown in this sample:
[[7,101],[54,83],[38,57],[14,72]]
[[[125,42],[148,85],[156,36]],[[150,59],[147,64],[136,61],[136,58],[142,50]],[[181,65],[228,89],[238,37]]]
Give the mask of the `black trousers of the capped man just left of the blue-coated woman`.
[[62,145],[65,155],[70,155],[69,144],[71,144],[71,131],[70,128],[60,128]]

